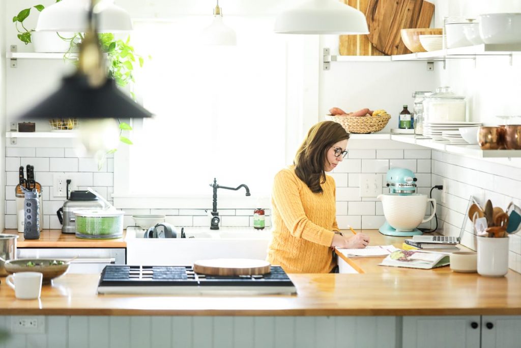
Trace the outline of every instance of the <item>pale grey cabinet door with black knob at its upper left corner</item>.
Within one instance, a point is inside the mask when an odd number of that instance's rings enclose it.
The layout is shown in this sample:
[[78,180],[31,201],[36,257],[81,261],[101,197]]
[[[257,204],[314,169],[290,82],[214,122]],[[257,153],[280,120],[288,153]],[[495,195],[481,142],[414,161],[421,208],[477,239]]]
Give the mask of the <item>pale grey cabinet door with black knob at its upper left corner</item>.
[[481,348],[519,348],[521,316],[482,316]]

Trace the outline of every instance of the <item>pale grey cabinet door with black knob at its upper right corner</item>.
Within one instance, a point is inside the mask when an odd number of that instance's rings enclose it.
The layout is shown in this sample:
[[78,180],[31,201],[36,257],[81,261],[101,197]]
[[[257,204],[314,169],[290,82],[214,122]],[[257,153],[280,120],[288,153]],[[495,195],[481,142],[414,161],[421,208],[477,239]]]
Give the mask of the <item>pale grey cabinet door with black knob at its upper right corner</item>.
[[477,348],[479,316],[403,317],[403,348]]

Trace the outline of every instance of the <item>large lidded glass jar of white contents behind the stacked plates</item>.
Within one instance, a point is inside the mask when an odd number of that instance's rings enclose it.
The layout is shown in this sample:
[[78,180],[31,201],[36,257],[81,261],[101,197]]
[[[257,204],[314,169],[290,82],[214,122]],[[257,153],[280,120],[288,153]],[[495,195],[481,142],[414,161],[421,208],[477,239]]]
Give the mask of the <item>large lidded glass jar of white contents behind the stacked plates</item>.
[[438,87],[435,93],[425,97],[424,123],[465,122],[467,102],[450,87]]

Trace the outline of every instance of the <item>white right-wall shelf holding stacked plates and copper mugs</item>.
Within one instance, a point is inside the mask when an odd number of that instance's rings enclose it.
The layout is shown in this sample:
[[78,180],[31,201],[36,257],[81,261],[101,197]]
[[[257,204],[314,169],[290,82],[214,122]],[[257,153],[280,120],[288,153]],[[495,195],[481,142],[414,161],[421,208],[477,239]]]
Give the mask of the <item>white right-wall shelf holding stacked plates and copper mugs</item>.
[[391,140],[477,158],[520,158],[521,150],[481,150],[478,145],[459,145],[414,135],[391,135]]

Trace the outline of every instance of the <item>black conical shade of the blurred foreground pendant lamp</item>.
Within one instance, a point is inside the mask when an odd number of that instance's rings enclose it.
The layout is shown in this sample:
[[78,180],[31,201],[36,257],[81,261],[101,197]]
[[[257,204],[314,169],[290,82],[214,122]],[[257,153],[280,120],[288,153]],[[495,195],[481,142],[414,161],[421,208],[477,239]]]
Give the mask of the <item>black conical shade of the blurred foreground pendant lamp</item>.
[[152,113],[134,102],[107,78],[100,87],[89,85],[87,76],[64,77],[61,87],[19,119],[52,118],[145,118]]

